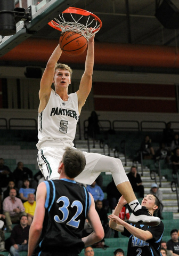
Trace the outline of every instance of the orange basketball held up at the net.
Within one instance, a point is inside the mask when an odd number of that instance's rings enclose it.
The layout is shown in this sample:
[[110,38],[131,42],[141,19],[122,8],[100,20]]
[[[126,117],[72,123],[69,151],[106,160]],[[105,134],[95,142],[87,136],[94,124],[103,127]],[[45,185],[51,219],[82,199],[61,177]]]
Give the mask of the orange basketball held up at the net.
[[68,56],[77,56],[87,48],[87,40],[84,36],[74,32],[66,31],[60,36],[60,48]]

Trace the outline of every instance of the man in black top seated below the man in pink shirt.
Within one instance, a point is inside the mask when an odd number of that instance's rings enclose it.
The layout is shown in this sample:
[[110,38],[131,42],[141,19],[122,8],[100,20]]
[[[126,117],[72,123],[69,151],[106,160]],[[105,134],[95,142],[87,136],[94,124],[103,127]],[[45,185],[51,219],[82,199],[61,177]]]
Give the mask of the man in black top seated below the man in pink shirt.
[[22,215],[20,218],[20,224],[15,225],[12,230],[10,242],[10,254],[11,256],[19,256],[19,252],[28,251],[28,239],[29,228],[27,224],[28,219],[26,215]]

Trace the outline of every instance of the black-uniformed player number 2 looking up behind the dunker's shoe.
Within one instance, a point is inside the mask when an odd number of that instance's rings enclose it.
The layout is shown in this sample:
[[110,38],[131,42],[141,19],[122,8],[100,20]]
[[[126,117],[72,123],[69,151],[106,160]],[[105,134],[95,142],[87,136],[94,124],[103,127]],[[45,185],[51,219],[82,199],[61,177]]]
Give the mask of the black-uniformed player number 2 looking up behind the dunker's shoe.
[[[122,207],[126,204],[123,196],[109,215],[109,226],[121,232],[122,235],[129,237],[127,256],[159,256],[161,249],[161,239],[164,233],[164,223],[160,222],[158,226],[132,225],[130,221],[121,220],[118,215]],[[146,195],[141,203],[151,215],[160,207],[160,201],[155,195]]]

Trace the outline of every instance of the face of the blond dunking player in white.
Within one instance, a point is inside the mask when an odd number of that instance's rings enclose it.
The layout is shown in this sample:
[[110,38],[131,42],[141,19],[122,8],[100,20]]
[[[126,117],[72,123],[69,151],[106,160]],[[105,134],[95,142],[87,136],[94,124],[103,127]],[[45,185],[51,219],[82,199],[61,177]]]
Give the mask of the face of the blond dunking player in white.
[[55,89],[57,89],[59,86],[67,88],[68,85],[71,84],[70,72],[60,68],[56,69],[53,82]]

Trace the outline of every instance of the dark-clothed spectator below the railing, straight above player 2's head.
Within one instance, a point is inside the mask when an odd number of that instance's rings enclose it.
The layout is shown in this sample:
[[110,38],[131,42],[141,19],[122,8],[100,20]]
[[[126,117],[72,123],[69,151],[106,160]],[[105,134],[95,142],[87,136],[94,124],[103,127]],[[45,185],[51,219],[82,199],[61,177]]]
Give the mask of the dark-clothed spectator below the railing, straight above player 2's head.
[[144,141],[142,141],[140,151],[142,152],[143,159],[154,158],[154,149],[149,135],[146,135]]

